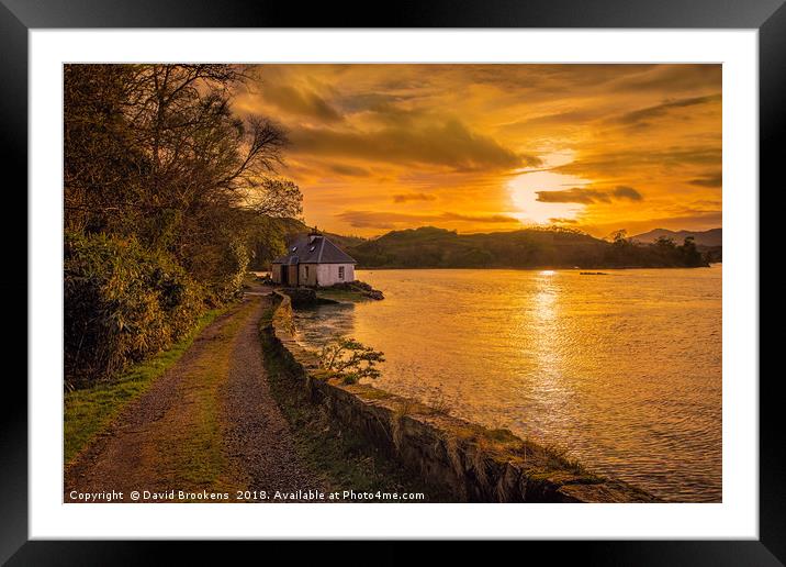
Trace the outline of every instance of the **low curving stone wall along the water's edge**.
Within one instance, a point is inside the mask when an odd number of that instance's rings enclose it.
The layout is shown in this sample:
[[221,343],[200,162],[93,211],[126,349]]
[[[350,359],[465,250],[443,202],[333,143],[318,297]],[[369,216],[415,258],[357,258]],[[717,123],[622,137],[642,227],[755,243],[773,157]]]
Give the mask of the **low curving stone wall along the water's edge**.
[[507,430],[487,430],[371,385],[346,385],[293,336],[290,298],[265,330],[313,403],[427,483],[470,502],[654,502]]

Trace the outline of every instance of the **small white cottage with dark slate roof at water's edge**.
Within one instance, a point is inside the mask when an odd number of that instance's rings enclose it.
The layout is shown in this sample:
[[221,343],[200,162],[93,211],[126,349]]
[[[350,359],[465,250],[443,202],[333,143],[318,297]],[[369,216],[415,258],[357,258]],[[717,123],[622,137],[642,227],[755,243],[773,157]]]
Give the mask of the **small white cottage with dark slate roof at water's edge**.
[[333,286],[355,281],[357,262],[314,231],[295,238],[287,254],[272,262],[270,277],[282,286]]

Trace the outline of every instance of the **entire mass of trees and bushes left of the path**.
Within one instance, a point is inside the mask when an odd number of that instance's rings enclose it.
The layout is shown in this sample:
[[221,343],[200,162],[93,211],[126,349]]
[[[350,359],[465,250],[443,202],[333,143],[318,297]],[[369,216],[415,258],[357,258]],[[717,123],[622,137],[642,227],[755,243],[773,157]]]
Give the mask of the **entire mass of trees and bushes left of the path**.
[[[67,388],[111,378],[236,298],[271,218],[301,214],[288,141],[238,114],[233,65],[66,65]],[[273,254],[271,252],[269,254]]]

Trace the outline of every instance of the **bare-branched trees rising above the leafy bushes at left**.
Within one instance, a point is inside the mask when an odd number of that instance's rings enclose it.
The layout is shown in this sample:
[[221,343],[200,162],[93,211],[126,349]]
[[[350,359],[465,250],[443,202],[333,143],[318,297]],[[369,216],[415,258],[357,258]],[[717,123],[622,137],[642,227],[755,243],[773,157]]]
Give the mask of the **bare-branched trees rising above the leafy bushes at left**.
[[67,229],[135,236],[234,286],[256,219],[302,211],[277,173],[284,131],[233,111],[247,80],[234,65],[66,66]]

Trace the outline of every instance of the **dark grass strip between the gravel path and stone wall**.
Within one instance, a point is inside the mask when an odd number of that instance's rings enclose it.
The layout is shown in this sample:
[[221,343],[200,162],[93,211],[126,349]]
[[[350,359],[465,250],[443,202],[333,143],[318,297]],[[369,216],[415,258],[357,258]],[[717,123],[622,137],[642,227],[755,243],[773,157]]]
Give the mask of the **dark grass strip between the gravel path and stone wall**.
[[260,321],[268,381],[306,466],[323,477],[330,490],[423,492],[426,502],[454,501],[453,494],[425,486],[359,435],[346,427],[338,429],[324,408],[307,399],[265,329],[272,312],[270,309]]

